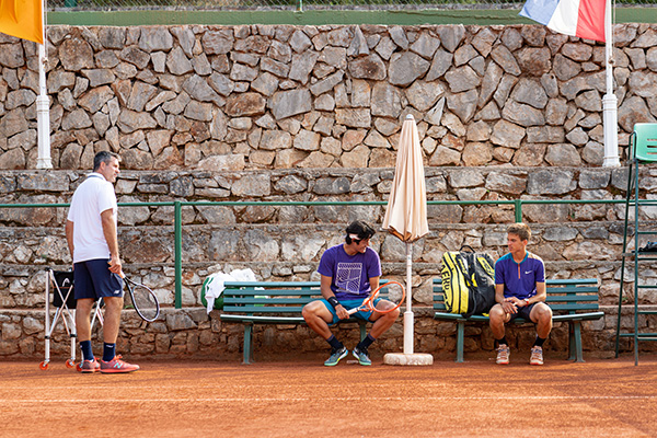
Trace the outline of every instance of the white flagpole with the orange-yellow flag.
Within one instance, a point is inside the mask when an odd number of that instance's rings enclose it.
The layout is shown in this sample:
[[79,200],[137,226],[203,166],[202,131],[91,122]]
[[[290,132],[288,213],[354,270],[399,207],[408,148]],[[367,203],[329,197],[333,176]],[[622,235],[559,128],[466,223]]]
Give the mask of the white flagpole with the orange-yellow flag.
[[46,88],[46,0],[42,1],[43,38],[44,44],[38,45],[38,96],[36,97],[36,123],[38,132],[38,157],[36,169],[53,169],[50,159],[50,100]]

